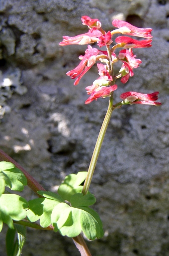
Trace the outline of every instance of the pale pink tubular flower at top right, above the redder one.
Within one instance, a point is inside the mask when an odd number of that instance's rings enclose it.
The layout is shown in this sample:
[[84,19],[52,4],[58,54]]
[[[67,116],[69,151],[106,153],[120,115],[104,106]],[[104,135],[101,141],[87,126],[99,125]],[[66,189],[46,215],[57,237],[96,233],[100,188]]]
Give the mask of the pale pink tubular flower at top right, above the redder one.
[[115,27],[122,28],[121,29],[122,34],[134,35],[134,36],[144,37],[147,39],[152,38],[152,35],[151,35],[151,31],[153,30],[152,28],[135,27],[135,26],[131,25],[130,23],[123,21],[123,20],[119,20],[119,19],[114,19],[112,21],[112,24]]

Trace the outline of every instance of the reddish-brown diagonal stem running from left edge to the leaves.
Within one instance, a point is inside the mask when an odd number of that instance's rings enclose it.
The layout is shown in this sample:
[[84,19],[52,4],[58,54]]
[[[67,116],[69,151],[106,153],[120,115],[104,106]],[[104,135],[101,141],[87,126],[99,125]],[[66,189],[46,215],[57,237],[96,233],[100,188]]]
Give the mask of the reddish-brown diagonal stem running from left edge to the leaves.
[[[25,169],[20,166],[15,160],[8,156],[5,152],[0,149],[0,161],[7,161],[13,163],[19,170],[23,172],[27,179],[28,186],[37,194],[37,191],[44,190],[46,191]],[[37,194],[38,195],[38,194]],[[41,197],[40,195],[38,195]]]

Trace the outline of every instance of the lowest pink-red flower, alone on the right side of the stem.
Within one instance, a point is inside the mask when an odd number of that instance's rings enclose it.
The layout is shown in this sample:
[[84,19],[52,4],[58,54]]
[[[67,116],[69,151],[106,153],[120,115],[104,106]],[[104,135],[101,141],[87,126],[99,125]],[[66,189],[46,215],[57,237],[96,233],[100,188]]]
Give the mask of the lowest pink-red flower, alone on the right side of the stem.
[[160,102],[155,102],[158,100],[159,92],[154,92],[150,94],[142,94],[137,92],[126,92],[120,95],[120,98],[124,100],[125,104],[148,104],[160,106]]

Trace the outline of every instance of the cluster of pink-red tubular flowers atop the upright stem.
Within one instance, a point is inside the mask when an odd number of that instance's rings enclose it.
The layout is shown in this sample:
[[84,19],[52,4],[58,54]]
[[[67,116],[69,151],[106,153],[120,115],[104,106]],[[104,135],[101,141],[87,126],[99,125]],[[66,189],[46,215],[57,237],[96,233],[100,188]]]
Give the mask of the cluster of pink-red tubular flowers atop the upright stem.
[[[97,48],[92,48],[91,45],[87,46],[84,56],[80,56],[80,64],[73,70],[67,72],[67,75],[72,79],[75,79],[74,85],[78,85],[84,74],[97,63],[99,77],[93,82],[91,86],[87,86],[86,92],[90,94],[89,98],[85,101],[85,104],[97,100],[98,98],[110,97],[113,95],[113,91],[117,89],[115,84],[116,79],[120,78],[122,83],[126,83],[130,77],[134,75],[133,69],[138,68],[142,63],[140,59],[136,59],[132,48],[148,48],[151,47],[152,28],[138,28],[126,21],[114,19],[112,25],[116,29],[105,32],[101,28],[101,22],[98,19],[91,19],[88,16],[82,16],[83,25],[87,25],[89,30],[87,33],[80,34],[74,37],[63,36],[63,41],[60,42],[61,46],[71,44],[91,44],[97,43]],[[116,33],[122,35],[116,37],[116,44],[111,47],[112,36]],[[129,36],[137,36],[146,38],[143,40],[136,40]],[[106,50],[100,50],[100,47],[106,47]],[[122,48],[119,51],[118,56],[115,54],[116,48]],[[115,62],[121,61],[122,66],[118,74],[114,75],[113,65]],[[103,64],[102,64],[103,63]],[[114,106],[122,106],[124,104],[150,104],[159,106],[161,103],[157,103],[158,93],[141,94],[137,92],[123,93],[120,98],[122,102]]]

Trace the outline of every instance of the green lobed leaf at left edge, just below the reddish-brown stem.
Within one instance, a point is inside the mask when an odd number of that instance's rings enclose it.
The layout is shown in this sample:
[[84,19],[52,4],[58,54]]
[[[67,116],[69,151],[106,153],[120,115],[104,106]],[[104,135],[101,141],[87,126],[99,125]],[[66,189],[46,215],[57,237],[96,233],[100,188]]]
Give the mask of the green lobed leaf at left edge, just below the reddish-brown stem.
[[[27,185],[25,175],[10,162],[0,162],[0,181],[5,181],[5,186],[11,190],[22,191]],[[4,184],[3,184],[4,188]]]

